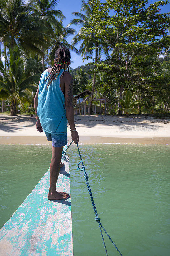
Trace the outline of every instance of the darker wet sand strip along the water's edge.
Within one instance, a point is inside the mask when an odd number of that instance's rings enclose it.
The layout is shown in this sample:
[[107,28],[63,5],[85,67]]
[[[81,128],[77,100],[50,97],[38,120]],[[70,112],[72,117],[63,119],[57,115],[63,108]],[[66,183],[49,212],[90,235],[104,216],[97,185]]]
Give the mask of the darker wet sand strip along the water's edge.
[[[68,136],[69,143],[72,141]],[[0,136],[1,145],[52,145],[45,136]],[[95,144],[150,144],[170,145],[170,137],[112,138],[101,136],[81,136],[79,145]],[[72,144],[74,145],[74,143]],[[76,145],[76,144],[75,144]]]

